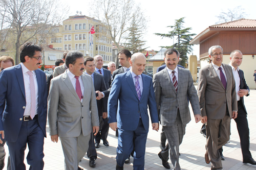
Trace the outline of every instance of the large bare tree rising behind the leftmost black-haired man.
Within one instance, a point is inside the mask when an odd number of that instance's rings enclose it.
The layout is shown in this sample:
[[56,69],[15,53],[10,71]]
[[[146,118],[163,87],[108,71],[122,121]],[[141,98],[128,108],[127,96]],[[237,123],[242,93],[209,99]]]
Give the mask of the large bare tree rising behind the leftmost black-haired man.
[[[15,36],[15,62],[19,63],[19,48],[26,41],[35,38],[40,32],[51,33],[59,25],[68,8],[59,0],[2,0],[0,12],[5,28]],[[61,9],[61,10],[60,10]],[[46,29],[46,26],[48,28]],[[43,37],[40,37],[41,39]]]

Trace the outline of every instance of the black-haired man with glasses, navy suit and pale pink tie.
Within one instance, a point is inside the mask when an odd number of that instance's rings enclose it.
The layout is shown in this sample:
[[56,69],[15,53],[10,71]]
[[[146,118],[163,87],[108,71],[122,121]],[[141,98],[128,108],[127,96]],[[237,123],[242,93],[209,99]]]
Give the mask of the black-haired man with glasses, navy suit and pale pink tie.
[[27,42],[20,48],[20,64],[6,68],[0,76],[0,135],[8,144],[11,169],[25,170],[24,151],[31,170],[44,168],[47,86],[42,48]]

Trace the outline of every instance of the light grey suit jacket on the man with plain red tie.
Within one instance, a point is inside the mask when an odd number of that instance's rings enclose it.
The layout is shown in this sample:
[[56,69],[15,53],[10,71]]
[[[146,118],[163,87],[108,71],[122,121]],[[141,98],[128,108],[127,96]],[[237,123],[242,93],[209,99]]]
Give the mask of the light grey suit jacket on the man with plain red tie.
[[92,77],[81,76],[84,93],[79,99],[67,71],[53,78],[48,96],[50,135],[59,137],[87,136],[92,126],[99,126],[98,109]]

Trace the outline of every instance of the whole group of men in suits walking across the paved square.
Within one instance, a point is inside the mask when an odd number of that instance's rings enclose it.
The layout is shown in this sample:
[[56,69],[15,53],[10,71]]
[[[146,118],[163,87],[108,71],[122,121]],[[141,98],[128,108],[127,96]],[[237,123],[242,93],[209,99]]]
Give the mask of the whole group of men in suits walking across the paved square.
[[250,90],[239,69],[243,59],[239,50],[231,52],[227,65],[222,63],[222,47],[211,46],[211,63],[200,70],[197,90],[190,71],[178,65],[180,54],[175,48],[165,51],[165,66],[153,79],[145,74],[145,56],[123,49],[118,54],[122,67],[117,70],[114,62],[103,68],[100,55],[84,58],[78,51],[65,52],[46,80],[38,69],[41,52],[39,45],[27,42],[20,49],[20,64],[14,66],[8,56],[0,58],[0,169],[5,142],[8,170],[26,169],[27,145],[30,169],[44,168],[48,115],[51,140],[60,139],[65,169],[82,169],[79,161],[86,153],[89,165],[95,167],[100,141],[109,146],[109,128],[118,136],[116,169],[123,169],[130,155],[133,168],[144,169],[150,116],[153,130],[159,130],[159,122],[162,125],[158,156],[163,166],[179,170],[179,146],[191,120],[189,103],[195,122],[201,120],[206,126],[205,162],[211,163],[211,169],[223,168],[222,147],[230,137],[231,118],[237,123],[243,163],[256,164],[249,151],[243,96]]

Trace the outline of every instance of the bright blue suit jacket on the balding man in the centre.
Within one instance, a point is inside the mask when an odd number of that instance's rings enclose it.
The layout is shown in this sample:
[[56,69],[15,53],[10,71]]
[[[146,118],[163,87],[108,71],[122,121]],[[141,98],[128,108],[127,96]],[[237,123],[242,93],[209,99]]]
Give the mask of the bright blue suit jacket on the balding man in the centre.
[[109,123],[117,122],[117,127],[123,130],[134,131],[138,127],[141,116],[143,126],[148,131],[147,106],[150,110],[151,122],[158,123],[152,78],[143,74],[141,76],[143,91],[140,100],[131,71],[117,75],[113,81],[108,101]]

